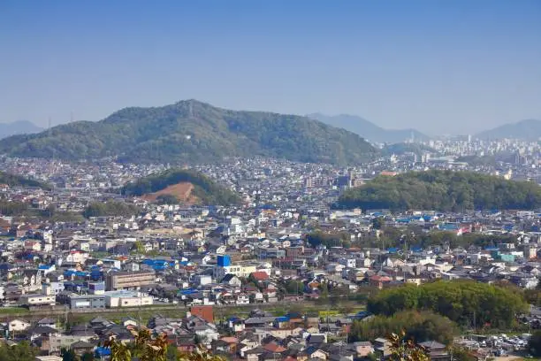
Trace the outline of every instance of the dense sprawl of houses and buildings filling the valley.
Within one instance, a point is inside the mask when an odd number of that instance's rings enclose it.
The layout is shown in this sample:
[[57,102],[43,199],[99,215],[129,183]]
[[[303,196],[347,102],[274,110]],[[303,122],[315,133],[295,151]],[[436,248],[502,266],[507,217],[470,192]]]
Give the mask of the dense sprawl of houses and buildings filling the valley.
[[[227,358],[353,361],[389,355],[387,334],[351,334],[354,323],[374,317],[365,302],[380,290],[435,280],[537,289],[538,211],[332,207],[347,188],[427,168],[537,179],[533,157],[486,169],[408,157],[350,168],[266,158],[194,165],[240,195],[241,204],[230,206],[118,192],[171,165],[4,157],[6,173],[51,187],[0,187],[3,334],[47,357],[72,349],[107,359],[110,335],[128,341],[131,329],[147,326],[179,351],[202,345]],[[87,214],[95,202],[132,211]],[[14,212],[15,203],[26,204],[25,212]],[[541,327],[537,305],[517,322]],[[452,357],[448,344],[419,343],[434,359]],[[524,349],[527,337],[469,335],[453,343],[484,359]]]

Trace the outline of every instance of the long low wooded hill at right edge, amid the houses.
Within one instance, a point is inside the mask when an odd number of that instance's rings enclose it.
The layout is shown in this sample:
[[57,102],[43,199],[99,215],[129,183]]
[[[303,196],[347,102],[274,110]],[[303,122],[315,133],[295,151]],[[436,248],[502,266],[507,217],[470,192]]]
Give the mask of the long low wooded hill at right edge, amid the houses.
[[402,210],[525,209],[541,206],[535,182],[471,172],[428,171],[379,176],[339,196],[339,207]]

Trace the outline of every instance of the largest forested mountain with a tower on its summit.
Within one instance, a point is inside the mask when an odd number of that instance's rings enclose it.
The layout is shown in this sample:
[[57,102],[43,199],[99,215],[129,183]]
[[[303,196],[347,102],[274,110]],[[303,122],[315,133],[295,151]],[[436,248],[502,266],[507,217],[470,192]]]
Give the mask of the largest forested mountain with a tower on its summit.
[[196,100],[126,108],[98,122],[77,121],[0,142],[0,153],[66,159],[118,157],[130,162],[205,162],[278,157],[356,164],[377,153],[357,134],[322,122],[263,111],[231,111]]

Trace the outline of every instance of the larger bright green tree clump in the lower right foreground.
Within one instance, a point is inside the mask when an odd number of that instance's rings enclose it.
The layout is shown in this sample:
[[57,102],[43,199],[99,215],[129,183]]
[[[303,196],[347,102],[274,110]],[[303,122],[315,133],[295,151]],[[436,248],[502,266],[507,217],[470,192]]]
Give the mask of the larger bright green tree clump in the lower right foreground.
[[440,280],[421,286],[389,288],[370,298],[368,310],[390,316],[402,310],[430,310],[461,325],[513,326],[516,314],[527,305],[510,288],[469,280]]

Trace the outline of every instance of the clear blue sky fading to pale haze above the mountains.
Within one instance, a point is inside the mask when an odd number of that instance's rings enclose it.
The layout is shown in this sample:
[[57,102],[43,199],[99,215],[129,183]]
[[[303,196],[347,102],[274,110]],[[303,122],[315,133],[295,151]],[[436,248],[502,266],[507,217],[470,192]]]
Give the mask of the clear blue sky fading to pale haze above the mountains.
[[0,1],[0,121],[189,98],[429,134],[541,119],[541,1]]

